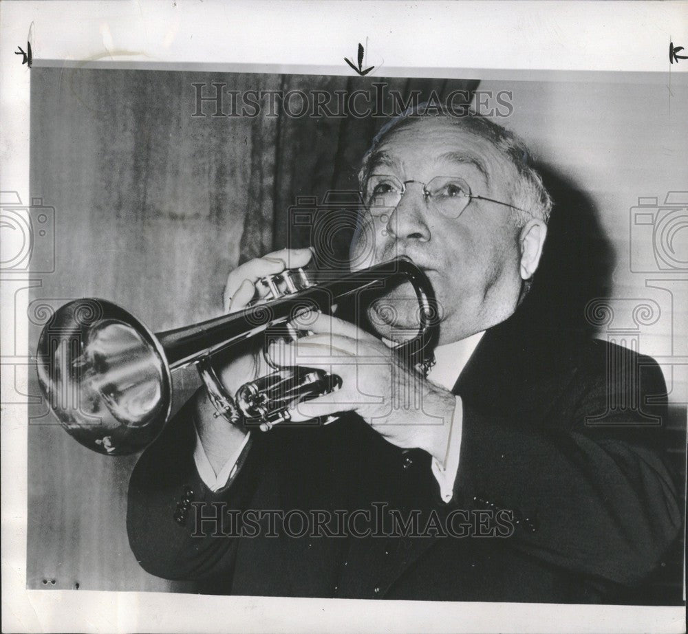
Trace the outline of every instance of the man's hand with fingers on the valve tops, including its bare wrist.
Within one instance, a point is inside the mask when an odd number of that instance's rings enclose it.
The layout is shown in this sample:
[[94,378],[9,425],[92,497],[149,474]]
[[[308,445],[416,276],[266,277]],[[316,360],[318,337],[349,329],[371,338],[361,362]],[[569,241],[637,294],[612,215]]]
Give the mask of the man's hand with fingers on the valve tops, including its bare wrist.
[[[262,285],[256,287],[259,278],[303,267],[310,262],[312,255],[312,250],[308,248],[282,249],[235,268],[227,277],[223,296],[224,312],[243,310],[251,300],[265,296],[267,289],[261,288]],[[271,371],[260,354],[262,345],[263,338],[258,336],[213,357],[219,378],[230,395],[235,395],[244,383]],[[246,431],[230,425],[215,413],[206,391],[199,391],[196,403],[198,434],[211,466],[218,473],[244,441]]]

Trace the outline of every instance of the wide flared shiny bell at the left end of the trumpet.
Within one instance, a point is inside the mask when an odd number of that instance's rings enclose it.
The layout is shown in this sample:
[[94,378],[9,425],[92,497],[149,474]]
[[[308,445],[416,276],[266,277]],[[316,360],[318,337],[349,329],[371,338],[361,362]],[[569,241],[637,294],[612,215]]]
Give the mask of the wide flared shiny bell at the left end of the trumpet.
[[67,433],[105,455],[138,452],[171,408],[164,350],[136,317],[105,300],[75,300],[41,333],[43,394]]

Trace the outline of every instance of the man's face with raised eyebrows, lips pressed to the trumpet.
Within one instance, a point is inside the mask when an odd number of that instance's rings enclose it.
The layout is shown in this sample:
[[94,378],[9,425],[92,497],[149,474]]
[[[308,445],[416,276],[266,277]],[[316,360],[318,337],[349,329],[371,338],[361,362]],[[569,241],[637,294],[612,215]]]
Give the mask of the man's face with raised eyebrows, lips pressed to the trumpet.
[[[513,210],[471,199],[458,218],[444,217],[424,197],[422,183],[436,176],[460,177],[473,195],[510,203],[513,166],[489,142],[446,118],[418,119],[392,131],[371,159],[370,174],[417,182],[407,184],[395,209],[382,215],[376,210],[376,217],[369,217],[369,230],[361,232],[353,245],[352,268],[409,256],[426,272],[435,290],[443,316],[440,344],[460,340],[510,316],[522,285]],[[408,286],[383,299],[396,311],[398,317],[391,324],[396,328],[413,329],[418,323]],[[380,334],[391,336],[380,325],[384,314],[376,318],[373,312],[372,318]]]

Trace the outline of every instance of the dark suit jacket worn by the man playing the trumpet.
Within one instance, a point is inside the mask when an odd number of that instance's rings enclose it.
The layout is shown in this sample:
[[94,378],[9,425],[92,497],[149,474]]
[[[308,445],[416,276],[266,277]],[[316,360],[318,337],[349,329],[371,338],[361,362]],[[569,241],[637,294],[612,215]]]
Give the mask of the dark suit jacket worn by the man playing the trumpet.
[[[131,477],[127,525],[140,564],[240,595],[614,601],[680,530],[676,485],[660,459],[666,407],[646,402],[665,402],[663,377],[647,357],[524,326],[517,313],[488,331],[455,386],[463,435],[449,505],[427,453],[392,446],[356,415],[255,433],[236,479],[213,493],[195,469],[183,408]],[[185,497],[191,509],[180,521]],[[297,538],[279,522],[267,536],[264,522],[255,537],[213,536],[209,525],[192,536],[197,502],[305,512],[387,503],[385,511],[420,512],[421,526],[431,514],[502,509],[513,511],[513,531]],[[299,518],[291,526],[298,532]]]

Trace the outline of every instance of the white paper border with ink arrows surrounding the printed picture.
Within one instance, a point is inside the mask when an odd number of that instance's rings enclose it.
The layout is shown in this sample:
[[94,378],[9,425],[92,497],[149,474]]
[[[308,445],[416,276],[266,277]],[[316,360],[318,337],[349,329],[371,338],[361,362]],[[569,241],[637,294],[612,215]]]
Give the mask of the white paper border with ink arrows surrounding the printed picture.
[[[327,3],[284,3],[277,11],[290,10],[294,21],[288,24],[294,32],[270,32],[268,41],[252,50],[250,39],[259,30],[261,12],[273,8],[272,3],[246,3],[235,5],[234,19],[226,24],[229,33],[219,45],[215,38],[222,28],[218,16],[226,16],[227,8],[221,3],[206,0],[204,6],[177,0],[152,3],[136,8],[136,3],[117,2],[16,2],[6,1],[0,6],[3,42],[22,45],[33,39],[34,67],[132,68],[166,70],[204,70],[208,72],[259,72],[288,74],[336,74],[351,76],[352,71],[343,63],[343,57],[352,56],[358,41],[367,44],[371,56],[367,63],[376,65],[377,76],[484,78],[509,80],[557,80],[602,82],[634,82],[643,78],[656,84],[658,90],[667,90],[670,83],[688,83],[688,61],[684,65],[669,67],[667,46],[669,38],[688,43],[688,23],[682,11],[685,5],[667,2],[656,3],[585,3],[585,25],[577,18],[574,2],[552,3],[544,8],[539,2],[460,3],[447,8],[445,3],[363,3],[365,11],[385,17],[385,28],[390,35],[381,33],[373,21],[356,23],[356,14],[346,15],[345,6],[359,3],[337,3],[327,17],[313,12],[317,6],[327,9]],[[164,30],[165,21],[175,23],[174,8],[179,5],[193,20],[180,23],[172,35]],[[330,7],[332,5],[329,5]],[[440,45],[424,45],[424,39],[402,41],[409,34],[409,22],[429,36],[433,25],[428,19],[429,8],[435,6],[449,11],[450,16],[469,15],[458,30],[464,36],[461,50],[442,51]],[[398,14],[395,14],[395,7]],[[556,7],[556,8],[555,8]],[[368,17],[367,15],[367,17]],[[237,20],[237,17],[240,17]],[[465,17],[465,16],[464,16]],[[275,21],[279,15],[275,16]],[[613,19],[613,22],[612,20]],[[132,33],[118,39],[127,25],[136,21]],[[606,21],[606,22],[605,22]],[[183,22],[183,21],[182,21]],[[237,22],[244,23],[245,38]],[[437,21],[436,21],[437,22]],[[509,42],[513,23],[528,24],[535,28],[521,43]],[[156,28],[151,25],[158,24]],[[65,26],[64,29],[61,26]],[[325,25],[330,25],[328,31]],[[336,26],[336,35],[334,27]],[[471,28],[491,33],[480,48],[480,34],[471,34]],[[320,30],[320,32],[318,31]],[[671,32],[669,32],[671,30]],[[379,32],[379,33],[378,33]],[[398,35],[394,35],[394,34]],[[306,36],[312,35],[308,40]],[[437,41],[442,41],[442,34]],[[294,46],[301,36],[308,45],[303,50]],[[377,37],[380,37],[378,40]],[[660,36],[662,40],[660,41]],[[131,39],[140,37],[144,46],[134,47]],[[398,37],[398,39],[394,39]],[[186,42],[195,40],[193,46]],[[329,41],[327,39],[329,38]],[[457,39],[460,39],[457,36]],[[184,40],[184,46],[177,45]],[[237,42],[238,40],[238,42]],[[248,40],[248,42],[247,42]],[[213,41],[216,45],[213,47]],[[394,46],[388,46],[389,41]],[[197,44],[199,43],[200,44]],[[231,43],[230,43],[231,42]],[[686,44],[688,46],[688,44]],[[471,46],[474,47],[471,51]],[[506,47],[499,57],[495,47]],[[118,58],[118,51],[142,48],[136,54]],[[477,65],[482,50],[488,67]],[[652,51],[648,54],[648,50]],[[94,52],[97,54],[94,55]],[[327,54],[323,54],[327,51]],[[535,53],[533,52],[535,51]],[[30,70],[15,57],[16,48],[7,45],[0,53],[3,85],[1,86],[0,173],[2,189],[19,193],[22,201],[30,201],[29,190],[29,88]],[[576,54],[577,53],[577,54]],[[255,63],[245,61],[255,54]],[[559,57],[557,57],[559,54]],[[266,63],[264,59],[284,59],[284,63]],[[100,58],[97,58],[100,56]],[[106,61],[105,56],[111,60]],[[189,61],[179,61],[179,56]],[[96,57],[96,59],[94,59]],[[219,57],[227,63],[217,61]],[[90,58],[90,59],[89,59]],[[169,61],[164,61],[169,58]],[[198,59],[213,59],[211,63]],[[318,58],[323,65],[299,63],[304,58]],[[338,58],[342,58],[341,65]],[[499,69],[493,64],[499,58],[526,68]],[[336,60],[336,61],[335,61]],[[380,62],[381,60],[381,62]],[[413,60],[413,61],[412,61]],[[438,65],[441,60],[442,65]],[[468,65],[464,65],[464,60]],[[456,65],[448,65],[456,61]],[[547,67],[569,64],[570,68]],[[416,66],[418,62],[421,65]],[[405,65],[408,63],[408,65]],[[387,64],[390,64],[387,66]],[[528,69],[528,64],[535,69]],[[585,68],[585,69],[583,69]],[[612,68],[618,70],[611,70]],[[670,82],[670,83],[669,83]],[[14,307],[17,282],[27,282],[30,276],[2,276],[1,305]],[[21,313],[21,307],[19,311]],[[16,332],[19,351],[28,345],[28,325],[13,323],[14,309],[2,310],[3,334]],[[4,336],[4,335],[3,335]],[[30,356],[30,352],[28,356]],[[17,353],[17,356],[19,353]],[[3,364],[12,358],[3,358]],[[29,364],[17,362],[16,383],[2,373],[3,402],[5,395],[14,390],[26,393]],[[685,631],[685,607],[675,606],[575,606],[554,604],[493,604],[412,602],[367,600],[319,600],[295,598],[216,597],[189,596],[167,593],[95,592],[65,590],[27,590],[25,525],[27,517],[26,479],[26,406],[3,404],[2,431],[2,587],[3,631],[347,631],[355,624],[356,631],[519,631],[519,632],[635,632]],[[431,607],[431,609],[430,609]],[[224,613],[231,623],[218,622],[217,614]]]

